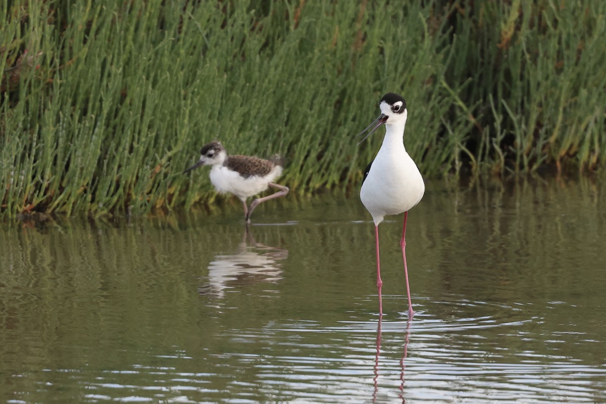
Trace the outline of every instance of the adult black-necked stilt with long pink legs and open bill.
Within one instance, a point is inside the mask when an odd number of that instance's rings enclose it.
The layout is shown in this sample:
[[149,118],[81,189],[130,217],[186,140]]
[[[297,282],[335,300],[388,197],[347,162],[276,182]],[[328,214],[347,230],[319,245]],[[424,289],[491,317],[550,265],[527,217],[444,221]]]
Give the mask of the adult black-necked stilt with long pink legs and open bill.
[[[400,246],[404,259],[406,292],[408,294],[408,318],[415,314],[410,301],[408,268],[406,267],[406,219],[408,210],[419,203],[425,193],[423,177],[413,159],[404,148],[404,127],[408,111],[406,101],[398,94],[388,93],[379,102],[381,115],[358,136],[368,131],[366,139],[373,131],[385,124],[385,137],[375,160],[364,171],[360,190],[362,204],[370,212],[375,222],[375,244],[377,259],[377,289],[379,293],[379,314],[382,316],[381,266],[379,265],[379,223],[386,215],[404,212],[404,228]],[[362,141],[364,141],[362,139]]]

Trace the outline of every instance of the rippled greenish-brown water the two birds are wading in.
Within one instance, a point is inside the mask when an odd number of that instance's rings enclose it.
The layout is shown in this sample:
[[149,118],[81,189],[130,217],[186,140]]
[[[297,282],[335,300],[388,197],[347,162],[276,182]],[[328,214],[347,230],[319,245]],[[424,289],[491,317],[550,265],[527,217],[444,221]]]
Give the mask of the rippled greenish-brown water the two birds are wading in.
[[0,402],[606,403],[604,182],[0,224]]

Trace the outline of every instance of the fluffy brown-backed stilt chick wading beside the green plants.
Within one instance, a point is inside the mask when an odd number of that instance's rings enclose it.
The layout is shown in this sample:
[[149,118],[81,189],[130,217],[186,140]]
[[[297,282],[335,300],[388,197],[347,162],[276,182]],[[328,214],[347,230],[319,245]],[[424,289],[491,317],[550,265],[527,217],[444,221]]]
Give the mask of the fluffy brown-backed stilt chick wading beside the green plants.
[[[252,156],[228,156],[221,142],[213,141],[204,145],[200,150],[199,161],[183,173],[193,170],[201,165],[212,165],[210,170],[210,182],[220,193],[229,192],[239,197],[244,206],[244,219],[250,223],[250,214],[261,202],[285,196],[288,187],[273,182],[282,174],[282,165],[275,161],[259,159]],[[279,191],[275,194],[253,200],[250,207],[246,205],[246,199],[255,196],[268,187]]]

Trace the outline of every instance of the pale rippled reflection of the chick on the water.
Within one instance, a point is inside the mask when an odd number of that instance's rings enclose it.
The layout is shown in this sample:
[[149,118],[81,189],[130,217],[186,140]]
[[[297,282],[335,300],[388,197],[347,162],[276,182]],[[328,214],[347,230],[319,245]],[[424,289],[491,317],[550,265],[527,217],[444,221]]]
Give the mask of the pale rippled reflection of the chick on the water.
[[251,283],[278,282],[282,279],[282,261],[287,257],[288,250],[256,242],[246,227],[235,253],[217,255],[208,264],[208,277],[199,292],[222,298],[227,289]]

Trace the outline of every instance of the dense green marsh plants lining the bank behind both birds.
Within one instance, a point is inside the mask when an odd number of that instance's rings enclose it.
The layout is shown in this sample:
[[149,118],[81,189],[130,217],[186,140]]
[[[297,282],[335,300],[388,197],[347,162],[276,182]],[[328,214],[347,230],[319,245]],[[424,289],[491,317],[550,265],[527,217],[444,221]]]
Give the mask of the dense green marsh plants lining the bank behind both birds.
[[[210,202],[202,144],[281,154],[293,192],[358,187],[396,91],[425,176],[595,169],[602,2],[0,1],[0,210]],[[27,52],[26,52],[27,50]]]

